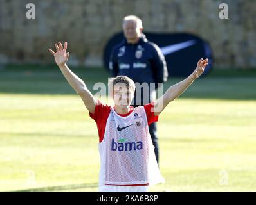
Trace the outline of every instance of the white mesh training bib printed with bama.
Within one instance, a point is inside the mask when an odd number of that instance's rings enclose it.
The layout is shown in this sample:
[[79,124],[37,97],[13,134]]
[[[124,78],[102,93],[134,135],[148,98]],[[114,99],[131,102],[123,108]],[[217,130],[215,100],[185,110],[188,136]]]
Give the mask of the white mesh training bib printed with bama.
[[143,106],[134,108],[127,117],[118,115],[111,108],[104,139],[98,148],[100,186],[164,182],[154,154]]

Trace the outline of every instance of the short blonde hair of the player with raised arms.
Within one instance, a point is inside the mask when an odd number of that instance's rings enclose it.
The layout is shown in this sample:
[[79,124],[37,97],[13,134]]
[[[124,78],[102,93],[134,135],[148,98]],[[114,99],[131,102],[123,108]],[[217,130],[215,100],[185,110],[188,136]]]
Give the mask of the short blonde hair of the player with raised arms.
[[113,96],[114,85],[116,85],[117,83],[125,84],[128,90],[131,90],[132,94],[134,94],[135,92],[134,81],[127,76],[116,76],[114,78],[109,79],[109,83],[108,83],[109,95]]

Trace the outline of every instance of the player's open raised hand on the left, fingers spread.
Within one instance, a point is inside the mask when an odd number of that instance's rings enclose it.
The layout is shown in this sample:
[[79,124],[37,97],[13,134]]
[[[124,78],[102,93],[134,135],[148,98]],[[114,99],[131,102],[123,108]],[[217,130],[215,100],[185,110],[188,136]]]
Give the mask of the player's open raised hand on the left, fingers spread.
[[56,52],[54,52],[51,49],[49,49],[49,51],[51,52],[51,54],[53,54],[56,64],[60,67],[65,65],[66,62],[68,61],[69,52],[66,53],[68,43],[65,42],[64,47],[62,47],[62,44],[59,42],[59,44],[55,44],[55,47],[56,47]]

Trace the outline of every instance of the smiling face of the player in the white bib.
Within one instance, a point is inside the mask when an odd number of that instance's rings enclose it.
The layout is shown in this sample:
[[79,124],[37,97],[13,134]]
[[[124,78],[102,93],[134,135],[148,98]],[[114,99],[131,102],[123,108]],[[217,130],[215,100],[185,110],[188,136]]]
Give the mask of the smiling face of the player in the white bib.
[[120,108],[127,108],[131,105],[133,100],[133,92],[131,89],[127,88],[125,83],[116,83],[114,85],[114,105]]

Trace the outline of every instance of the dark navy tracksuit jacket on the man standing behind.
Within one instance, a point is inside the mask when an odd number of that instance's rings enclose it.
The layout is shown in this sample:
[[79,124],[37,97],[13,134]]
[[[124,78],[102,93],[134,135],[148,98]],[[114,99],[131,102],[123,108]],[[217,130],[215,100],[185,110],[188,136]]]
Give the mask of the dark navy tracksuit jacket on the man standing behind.
[[[122,43],[116,45],[111,53],[109,69],[112,76],[127,76],[134,83],[163,83],[167,81],[168,72],[165,57],[161,53],[158,45],[149,42],[145,35],[142,35],[137,44],[128,44],[124,39]],[[136,87],[136,90],[137,87]],[[147,102],[143,102],[143,90],[141,90],[141,103],[143,105],[154,100],[153,90],[149,90],[146,96]],[[134,97],[136,101],[136,95]]]

